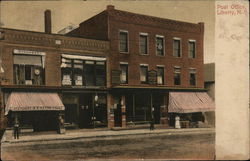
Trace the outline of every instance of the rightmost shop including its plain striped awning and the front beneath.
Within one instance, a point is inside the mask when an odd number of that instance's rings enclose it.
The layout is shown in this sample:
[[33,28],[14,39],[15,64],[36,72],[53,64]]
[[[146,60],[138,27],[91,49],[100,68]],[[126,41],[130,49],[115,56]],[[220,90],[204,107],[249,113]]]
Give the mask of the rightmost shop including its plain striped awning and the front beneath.
[[214,101],[206,92],[169,93],[170,126],[174,127],[176,116],[182,127],[207,126],[206,113],[214,110]]

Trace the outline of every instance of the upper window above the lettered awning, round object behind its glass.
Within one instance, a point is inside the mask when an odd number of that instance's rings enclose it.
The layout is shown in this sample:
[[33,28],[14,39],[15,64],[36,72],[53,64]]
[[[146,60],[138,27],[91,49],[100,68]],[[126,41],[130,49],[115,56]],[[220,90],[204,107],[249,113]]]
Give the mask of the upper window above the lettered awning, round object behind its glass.
[[14,55],[14,83],[44,85],[44,64],[41,55]]

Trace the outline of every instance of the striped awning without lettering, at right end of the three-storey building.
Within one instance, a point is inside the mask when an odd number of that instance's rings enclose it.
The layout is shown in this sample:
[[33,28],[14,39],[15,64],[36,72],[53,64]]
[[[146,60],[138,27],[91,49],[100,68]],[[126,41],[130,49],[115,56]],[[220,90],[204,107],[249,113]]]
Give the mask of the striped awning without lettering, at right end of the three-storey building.
[[169,113],[214,111],[215,104],[206,92],[170,92]]

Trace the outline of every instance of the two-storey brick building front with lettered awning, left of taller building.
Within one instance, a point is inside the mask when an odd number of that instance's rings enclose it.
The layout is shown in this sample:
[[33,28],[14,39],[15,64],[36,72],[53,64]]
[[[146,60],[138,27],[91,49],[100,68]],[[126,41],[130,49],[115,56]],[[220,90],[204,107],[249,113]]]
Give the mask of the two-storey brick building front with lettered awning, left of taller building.
[[20,124],[34,131],[56,129],[59,115],[69,127],[92,126],[94,113],[107,124],[108,42],[4,28],[0,32],[2,116],[16,113]]

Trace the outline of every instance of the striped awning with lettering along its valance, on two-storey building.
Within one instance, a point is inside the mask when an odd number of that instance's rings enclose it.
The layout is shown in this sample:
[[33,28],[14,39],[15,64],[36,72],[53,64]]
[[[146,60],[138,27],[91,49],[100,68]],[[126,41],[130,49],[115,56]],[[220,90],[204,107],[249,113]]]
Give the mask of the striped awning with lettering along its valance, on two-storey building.
[[5,114],[12,111],[61,111],[65,107],[57,93],[12,92],[8,98]]

